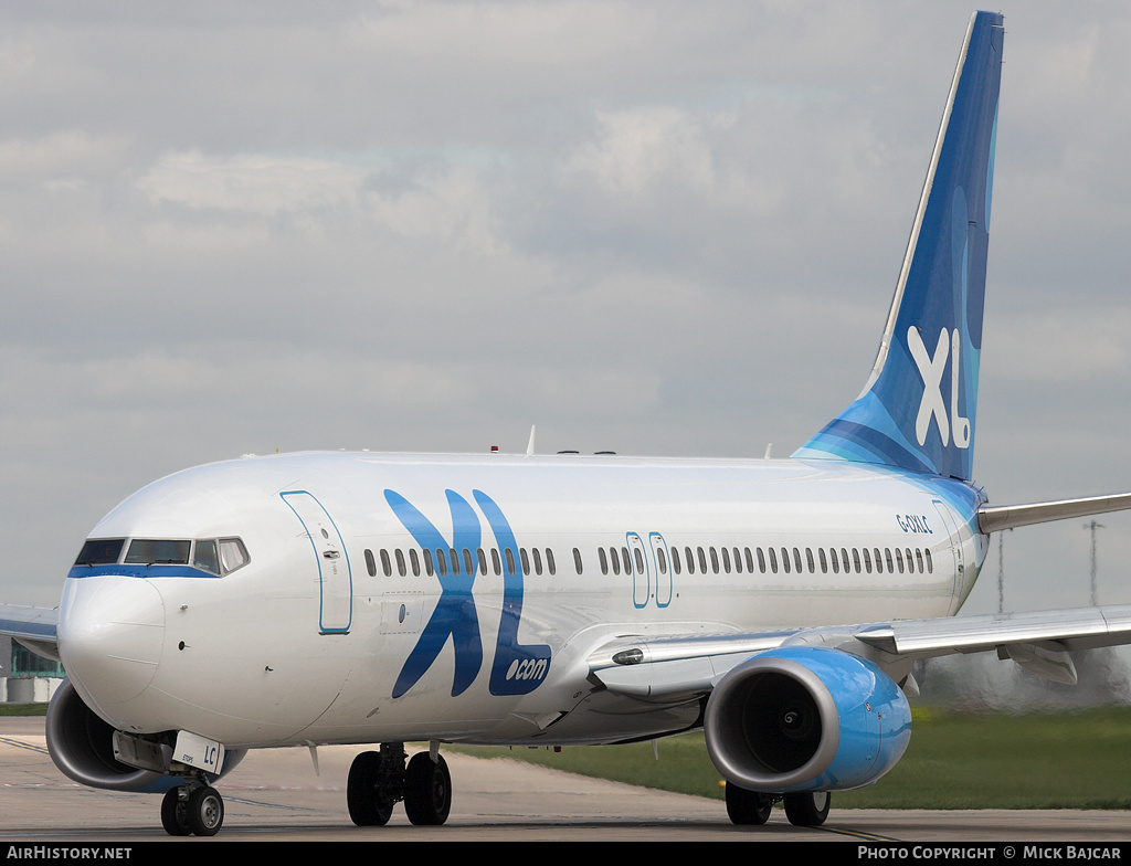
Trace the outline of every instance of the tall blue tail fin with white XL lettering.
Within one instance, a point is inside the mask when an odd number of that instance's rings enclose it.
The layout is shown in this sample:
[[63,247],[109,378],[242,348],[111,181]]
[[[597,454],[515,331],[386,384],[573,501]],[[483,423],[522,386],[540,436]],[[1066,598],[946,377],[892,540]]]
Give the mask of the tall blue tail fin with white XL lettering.
[[794,457],[970,478],[1002,36],[970,19],[872,375]]

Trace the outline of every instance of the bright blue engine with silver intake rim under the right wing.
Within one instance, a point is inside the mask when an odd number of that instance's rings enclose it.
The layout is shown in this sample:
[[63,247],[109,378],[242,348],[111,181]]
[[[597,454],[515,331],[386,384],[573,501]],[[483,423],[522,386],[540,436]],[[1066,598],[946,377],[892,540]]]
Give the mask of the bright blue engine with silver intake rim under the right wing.
[[723,778],[748,790],[848,790],[896,765],[912,735],[899,686],[871,661],[782,647],[733,668],[703,718]]

